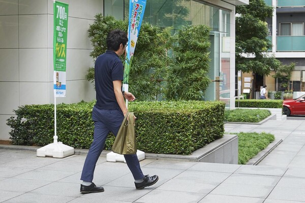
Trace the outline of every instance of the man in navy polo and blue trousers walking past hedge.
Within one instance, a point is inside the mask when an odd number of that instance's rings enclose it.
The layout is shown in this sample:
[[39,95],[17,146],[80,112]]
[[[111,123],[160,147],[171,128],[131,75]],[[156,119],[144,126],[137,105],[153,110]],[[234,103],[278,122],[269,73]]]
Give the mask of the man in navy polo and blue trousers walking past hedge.
[[[96,163],[104,149],[109,132],[116,136],[128,109],[125,100],[135,100],[130,92],[122,92],[123,63],[118,56],[125,52],[128,37],[125,31],[113,30],[109,32],[106,43],[107,51],[100,55],[95,63],[96,105],[93,108],[94,140],[88,151],[80,185],[81,193],[103,192],[103,187],[96,186],[93,175]],[[134,177],[136,189],[155,184],[158,176],[144,176],[136,154],[124,155],[126,163]]]

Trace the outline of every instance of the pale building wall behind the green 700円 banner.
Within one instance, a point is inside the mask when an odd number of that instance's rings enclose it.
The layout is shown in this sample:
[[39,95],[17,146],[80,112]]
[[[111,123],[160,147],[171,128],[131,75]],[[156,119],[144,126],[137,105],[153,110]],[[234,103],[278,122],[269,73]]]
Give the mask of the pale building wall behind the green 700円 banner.
[[[95,98],[85,80],[94,65],[89,24],[103,12],[103,0],[61,0],[69,4],[67,94],[56,103]],[[0,1],[0,140],[9,140],[6,120],[19,106],[53,104],[53,1]]]

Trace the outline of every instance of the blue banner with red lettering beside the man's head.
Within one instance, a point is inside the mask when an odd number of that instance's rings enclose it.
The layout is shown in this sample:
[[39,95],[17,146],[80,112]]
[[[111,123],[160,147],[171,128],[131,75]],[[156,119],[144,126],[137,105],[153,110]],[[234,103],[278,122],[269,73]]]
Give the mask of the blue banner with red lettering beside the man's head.
[[128,45],[126,47],[123,80],[123,90],[126,92],[128,92],[128,80],[132,56],[135,52],[142,19],[144,16],[145,6],[146,0],[130,0],[129,2]]

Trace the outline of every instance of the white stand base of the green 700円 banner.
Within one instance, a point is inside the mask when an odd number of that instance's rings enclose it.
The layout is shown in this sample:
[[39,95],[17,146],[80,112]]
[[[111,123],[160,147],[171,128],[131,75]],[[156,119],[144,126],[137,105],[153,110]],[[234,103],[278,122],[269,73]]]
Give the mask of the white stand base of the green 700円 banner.
[[62,142],[51,143],[42,148],[37,149],[37,156],[53,158],[64,158],[74,154],[74,148],[64,145]]

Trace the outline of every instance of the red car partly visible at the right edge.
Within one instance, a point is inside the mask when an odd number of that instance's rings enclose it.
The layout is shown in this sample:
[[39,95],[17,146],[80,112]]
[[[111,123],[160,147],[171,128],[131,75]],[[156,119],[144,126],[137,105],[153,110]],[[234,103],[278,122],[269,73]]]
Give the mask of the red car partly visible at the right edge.
[[287,116],[305,115],[305,94],[298,98],[284,100],[283,111]]

